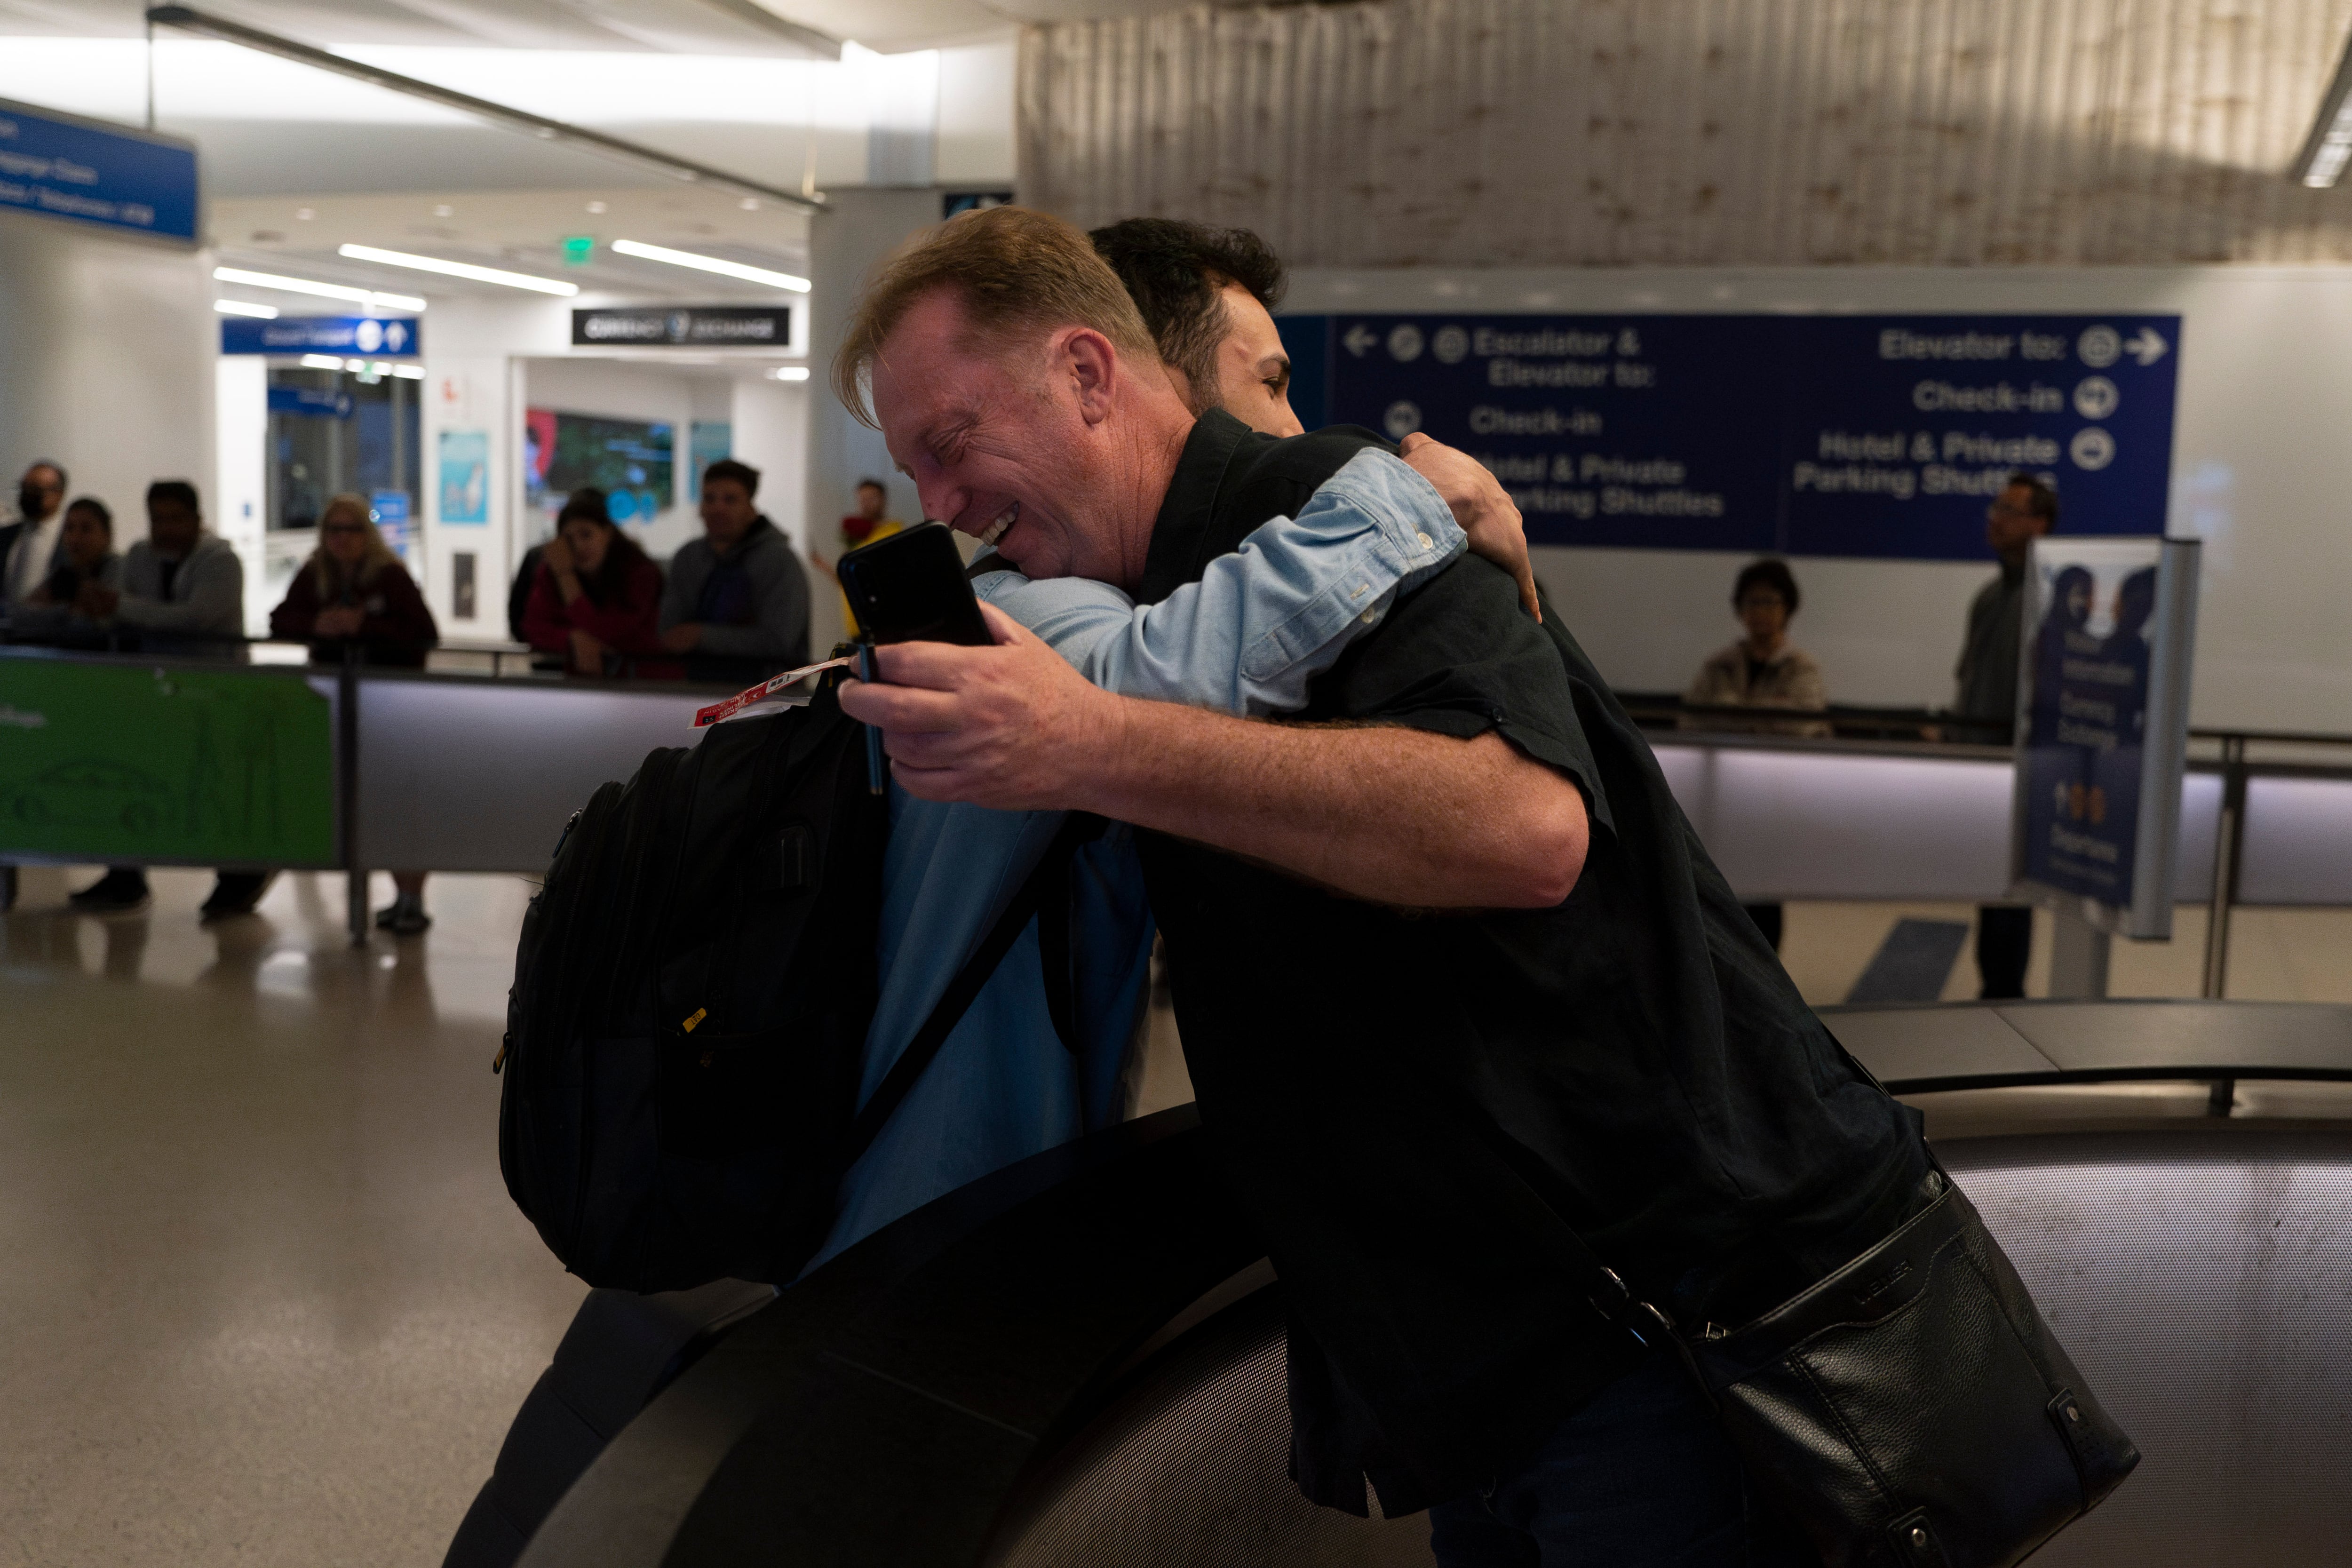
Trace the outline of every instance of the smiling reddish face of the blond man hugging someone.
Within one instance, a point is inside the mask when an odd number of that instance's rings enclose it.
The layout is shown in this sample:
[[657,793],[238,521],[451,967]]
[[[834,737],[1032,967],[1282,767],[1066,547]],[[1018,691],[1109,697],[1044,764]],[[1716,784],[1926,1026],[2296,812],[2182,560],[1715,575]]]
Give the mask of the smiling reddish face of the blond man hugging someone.
[[962,301],[941,289],[882,341],[875,421],[924,517],[997,545],[1028,576],[1117,583],[1120,548],[1103,527],[1112,442],[1056,362],[1061,336],[1035,350],[974,343]]

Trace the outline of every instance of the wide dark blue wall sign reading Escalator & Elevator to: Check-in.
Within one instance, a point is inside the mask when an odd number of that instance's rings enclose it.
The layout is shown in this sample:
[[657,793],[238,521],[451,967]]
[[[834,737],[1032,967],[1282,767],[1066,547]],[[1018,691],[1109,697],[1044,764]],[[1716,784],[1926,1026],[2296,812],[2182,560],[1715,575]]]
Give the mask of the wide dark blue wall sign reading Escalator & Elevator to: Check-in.
[[2176,315],[1282,317],[1312,428],[1425,430],[1555,545],[1987,559],[2011,473],[2154,534]]

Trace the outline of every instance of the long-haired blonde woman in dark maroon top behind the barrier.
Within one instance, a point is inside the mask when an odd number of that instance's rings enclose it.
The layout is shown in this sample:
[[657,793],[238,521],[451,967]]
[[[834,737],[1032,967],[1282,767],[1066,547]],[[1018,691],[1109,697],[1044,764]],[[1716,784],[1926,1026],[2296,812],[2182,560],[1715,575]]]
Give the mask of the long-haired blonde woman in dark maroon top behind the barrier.
[[[270,637],[308,642],[310,663],[341,663],[358,646],[362,663],[423,668],[440,628],[416,578],[376,531],[367,496],[336,496],[320,512],[318,550],[270,611]],[[393,872],[393,886],[397,898],[376,910],[376,924],[393,936],[423,936],[433,924],[426,875]]]

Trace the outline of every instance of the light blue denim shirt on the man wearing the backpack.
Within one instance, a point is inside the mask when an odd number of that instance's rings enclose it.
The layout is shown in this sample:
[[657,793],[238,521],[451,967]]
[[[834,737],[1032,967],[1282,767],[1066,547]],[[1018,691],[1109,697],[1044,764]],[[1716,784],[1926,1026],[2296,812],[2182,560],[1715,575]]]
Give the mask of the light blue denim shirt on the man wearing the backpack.
[[[1385,451],[1362,451],[1298,517],[1263,524],[1237,552],[1209,562],[1202,581],[1160,604],[1136,607],[1089,578],[1030,581],[1018,571],[985,574],[974,590],[1098,686],[1270,715],[1305,705],[1308,682],[1465,543],[1421,475]],[[1058,811],[941,804],[891,785],[877,940],[882,999],[866,1032],[861,1103],[1058,827]],[[1112,823],[1080,851],[1070,884],[1075,1056],[1047,1013],[1030,922],[844,1175],[833,1232],[811,1269],[964,1182],[1124,1117],[1152,947],[1134,832]]]

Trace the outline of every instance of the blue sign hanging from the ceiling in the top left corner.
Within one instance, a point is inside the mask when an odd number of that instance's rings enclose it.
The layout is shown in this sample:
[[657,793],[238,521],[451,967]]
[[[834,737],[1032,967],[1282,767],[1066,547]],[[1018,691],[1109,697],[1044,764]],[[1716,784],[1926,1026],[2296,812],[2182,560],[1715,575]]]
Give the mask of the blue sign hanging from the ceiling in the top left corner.
[[0,207],[195,242],[195,143],[0,99]]

